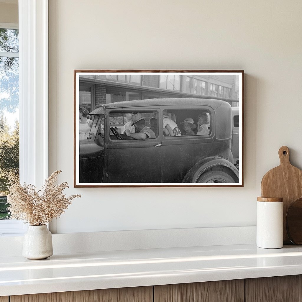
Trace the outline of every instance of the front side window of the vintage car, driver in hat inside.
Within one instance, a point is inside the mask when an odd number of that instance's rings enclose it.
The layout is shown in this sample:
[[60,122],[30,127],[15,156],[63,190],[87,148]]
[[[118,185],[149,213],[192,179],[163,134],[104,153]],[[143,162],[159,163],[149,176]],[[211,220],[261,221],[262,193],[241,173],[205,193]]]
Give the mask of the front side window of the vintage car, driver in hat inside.
[[111,111],[109,113],[111,140],[137,140],[134,133],[146,133],[148,139],[158,137],[157,111]]

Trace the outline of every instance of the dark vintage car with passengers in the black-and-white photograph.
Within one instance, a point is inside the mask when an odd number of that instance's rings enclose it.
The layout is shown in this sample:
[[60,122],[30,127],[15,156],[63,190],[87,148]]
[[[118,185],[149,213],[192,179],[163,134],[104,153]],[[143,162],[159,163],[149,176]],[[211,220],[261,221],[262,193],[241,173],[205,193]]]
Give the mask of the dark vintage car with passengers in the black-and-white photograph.
[[[121,131],[131,126],[130,118],[137,113],[153,129],[156,138],[137,140]],[[208,133],[196,135],[201,114],[208,117]],[[82,184],[239,182],[231,153],[232,108],[225,101],[197,98],[124,101],[99,105],[90,115],[93,123],[89,137],[79,142]],[[174,121],[181,136],[167,136],[163,131],[163,115]],[[194,121],[191,135],[185,135],[182,127],[188,117]]]

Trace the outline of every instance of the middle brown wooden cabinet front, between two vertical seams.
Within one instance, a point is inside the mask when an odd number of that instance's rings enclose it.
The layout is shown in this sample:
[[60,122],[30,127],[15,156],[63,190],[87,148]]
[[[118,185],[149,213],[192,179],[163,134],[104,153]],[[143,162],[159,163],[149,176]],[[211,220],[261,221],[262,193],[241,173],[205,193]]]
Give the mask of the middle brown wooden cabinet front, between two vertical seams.
[[244,280],[159,285],[154,302],[243,302]]

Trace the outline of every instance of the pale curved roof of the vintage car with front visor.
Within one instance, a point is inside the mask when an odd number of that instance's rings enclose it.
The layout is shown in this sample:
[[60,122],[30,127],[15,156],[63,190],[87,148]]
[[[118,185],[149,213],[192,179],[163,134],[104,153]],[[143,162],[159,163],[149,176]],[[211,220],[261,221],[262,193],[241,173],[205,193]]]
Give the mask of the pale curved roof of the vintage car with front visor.
[[99,114],[100,108],[124,108],[124,107],[143,107],[143,106],[162,106],[162,105],[207,105],[214,110],[226,103],[222,100],[210,99],[210,98],[151,98],[146,100],[134,100],[134,101],[122,101],[109,104],[101,104],[95,107],[95,109],[89,114]]

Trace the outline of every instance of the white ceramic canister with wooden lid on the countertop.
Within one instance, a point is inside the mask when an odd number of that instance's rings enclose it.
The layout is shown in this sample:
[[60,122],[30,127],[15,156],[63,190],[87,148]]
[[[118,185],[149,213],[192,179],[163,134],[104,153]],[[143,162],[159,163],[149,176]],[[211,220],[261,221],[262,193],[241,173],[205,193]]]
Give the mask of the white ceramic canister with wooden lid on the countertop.
[[283,198],[257,198],[257,246],[264,249],[283,247]]

